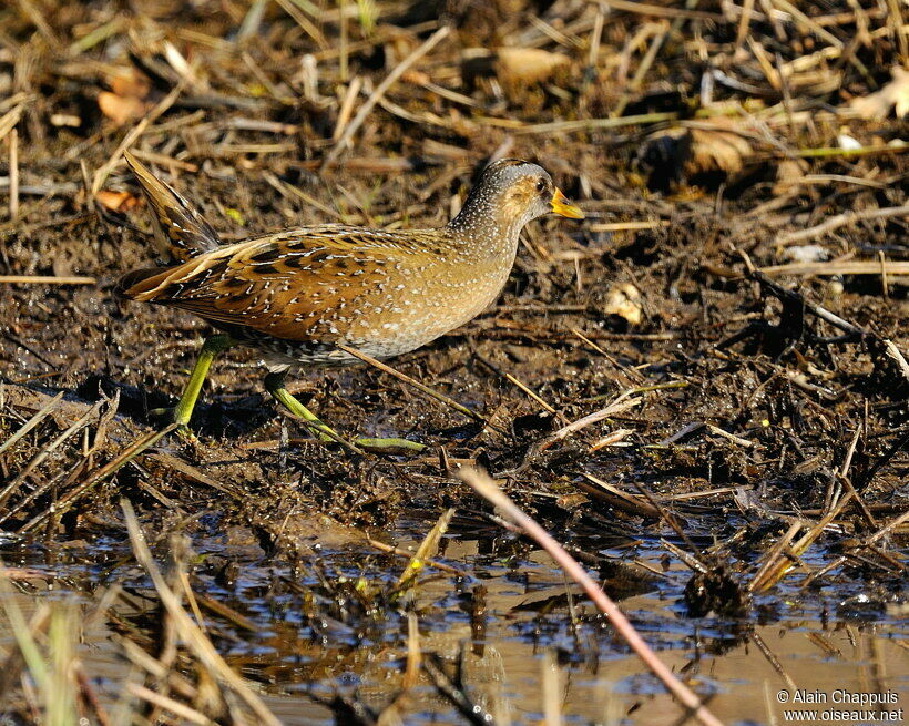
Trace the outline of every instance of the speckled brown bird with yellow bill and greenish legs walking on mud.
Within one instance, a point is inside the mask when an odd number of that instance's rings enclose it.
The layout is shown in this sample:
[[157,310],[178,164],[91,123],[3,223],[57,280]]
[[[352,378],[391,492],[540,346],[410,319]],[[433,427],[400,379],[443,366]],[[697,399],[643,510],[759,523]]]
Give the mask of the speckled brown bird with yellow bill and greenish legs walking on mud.
[[213,360],[247,346],[262,357],[266,390],[320,439],[358,451],[422,449],[406,439],[348,442],[287,391],[287,374],[360,362],[339,346],[388,359],[431,342],[498,298],[530,221],[584,218],[544,168],[504,159],[482,171],[460,212],[437,228],[318,224],[224,243],[184,196],[134,154],[124,157],[147,200],[160,264],[123,275],[115,295],[187,310],[218,330],[168,410],[187,436]]

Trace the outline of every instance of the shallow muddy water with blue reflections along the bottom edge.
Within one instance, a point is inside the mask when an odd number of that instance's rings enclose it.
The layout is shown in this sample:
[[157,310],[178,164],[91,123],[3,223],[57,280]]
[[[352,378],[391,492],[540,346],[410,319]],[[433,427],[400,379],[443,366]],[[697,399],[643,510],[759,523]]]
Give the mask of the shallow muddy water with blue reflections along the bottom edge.
[[[427,522],[411,520],[385,539],[399,548],[415,548],[426,530]],[[207,624],[227,662],[258,684],[268,706],[288,725],[333,723],[331,713],[314,703],[313,696],[330,699],[336,693],[356,694],[377,709],[394,699],[407,657],[404,610],[417,614],[423,653],[437,653],[451,663],[460,658],[469,694],[497,723],[541,722],[543,672],[552,663],[556,677],[548,683],[558,693],[568,724],[676,723],[680,706],[616,641],[576,587],[566,585],[548,555],[515,544],[510,536],[449,535],[438,560],[462,575],[429,569],[396,607],[370,613],[351,601],[346,616],[344,607],[338,612],[339,618],[314,610],[311,601],[306,604],[302,593],[318,591],[316,574],[295,574],[279,564],[251,562],[227,585],[197,567],[193,586],[253,621],[254,632],[219,617],[211,617]],[[223,554],[231,546],[196,543],[200,554]],[[243,551],[234,549],[235,554]],[[664,552],[657,543],[644,541],[607,553],[662,571],[658,559]],[[109,543],[92,553],[95,560],[115,562],[127,551],[120,543]],[[149,592],[134,564],[103,576],[103,565],[78,563],[78,543],[54,564],[47,564],[47,556],[39,556],[33,548],[7,550],[2,556],[10,565],[57,575],[47,581],[52,590],[39,583],[33,594],[17,595],[25,611],[48,597],[74,599],[88,606],[92,601],[89,586],[101,581],[122,580],[127,591]],[[334,583],[348,577],[366,590],[388,587],[401,571],[401,566],[389,567],[385,558],[350,548],[324,550],[319,556],[323,576]],[[677,602],[688,576],[680,563],[670,563],[663,574],[637,565],[633,572],[641,577],[627,577],[622,586],[640,592],[622,600],[624,612],[677,674],[709,696],[711,709],[728,724],[787,723],[785,708],[818,708],[818,723],[872,723],[825,719],[825,709],[865,708],[834,703],[844,699],[840,692],[891,694],[892,703],[882,707],[895,712],[909,706],[909,638],[906,620],[897,612],[870,618],[840,617],[839,602],[855,593],[800,593],[794,584],[798,577],[791,576],[780,585],[782,599],[766,599],[776,603],[772,621],[691,618]],[[287,582],[302,587],[279,584]],[[758,611],[759,605],[760,601]],[[307,609],[317,616],[309,616]],[[120,614],[129,615],[123,609]],[[92,627],[80,653],[86,672],[98,678],[100,693],[113,706],[122,694],[123,679],[130,676],[111,634],[103,625]],[[0,630],[0,644],[6,651],[13,646],[8,630]],[[799,704],[797,691],[803,701],[826,698],[827,703]],[[784,697],[790,703],[782,704]],[[407,724],[464,723],[426,675],[402,702],[401,713]]]

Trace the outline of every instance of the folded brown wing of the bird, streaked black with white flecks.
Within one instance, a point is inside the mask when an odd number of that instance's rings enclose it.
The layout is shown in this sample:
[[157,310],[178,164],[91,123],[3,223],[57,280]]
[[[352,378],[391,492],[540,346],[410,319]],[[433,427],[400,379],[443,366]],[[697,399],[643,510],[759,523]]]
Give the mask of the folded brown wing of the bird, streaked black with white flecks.
[[[436,232],[323,225],[248,239],[149,275],[122,295],[289,340],[330,339],[362,309],[387,305],[400,267],[431,264]],[[146,276],[147,275],[147,276]],[[139,279],[136,279],[139,278]]]

